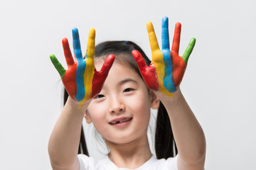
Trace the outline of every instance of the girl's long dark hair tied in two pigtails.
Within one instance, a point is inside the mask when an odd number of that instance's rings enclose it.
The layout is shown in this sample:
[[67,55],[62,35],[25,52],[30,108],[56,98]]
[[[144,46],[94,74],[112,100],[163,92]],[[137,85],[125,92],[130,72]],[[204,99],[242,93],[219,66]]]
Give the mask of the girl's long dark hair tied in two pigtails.
[[[144,58],[146,64],[149,66],[149,64],[151,63],[149,58],[146,57],[146,54],[137,44],[131,41],[106,41],[100,43],[99,45],[96,45],[95,60],[104,61],[108,55],[113,54],[116,56],[115,62],[122,62],[122,64],[127,64],[141,76],[139,72],[139,67],[137,66],[137,63],[132,57],[133,50],[138,50],[142,54],[142,57]],[[65,90],[64,105],[67,99],[68,93]],[[178,154],[178,150],[174,141],[174,135],[171,130],[169,115],[166,111],[166,108],[161,102],[156,118],[155,149],[157,159],[167,159],[169,157],[175,157],[176,154]],[[89,156],[83,128],[81,130],[78,154],[86,154],[87,156]]]

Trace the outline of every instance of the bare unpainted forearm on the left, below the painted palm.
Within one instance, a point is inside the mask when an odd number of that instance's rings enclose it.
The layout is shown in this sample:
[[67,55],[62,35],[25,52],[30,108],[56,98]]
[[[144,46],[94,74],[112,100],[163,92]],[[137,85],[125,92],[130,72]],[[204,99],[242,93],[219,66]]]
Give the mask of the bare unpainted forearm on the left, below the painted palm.
[[78,164],[77,155],[82,119],[89,103],[78,106],[78,103],[75,103],[72,98],[68,98],[48,143],[52,166],[71,168]]

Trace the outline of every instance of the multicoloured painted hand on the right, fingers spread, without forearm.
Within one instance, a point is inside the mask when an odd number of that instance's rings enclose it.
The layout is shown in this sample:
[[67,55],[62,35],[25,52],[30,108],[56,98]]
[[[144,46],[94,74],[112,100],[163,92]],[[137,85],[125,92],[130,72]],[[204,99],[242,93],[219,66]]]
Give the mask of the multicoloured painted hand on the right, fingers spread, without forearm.
[[134,50],[132,55],[136,60],[139,70],[149,89],[160,91],[166,96],[174,96],[176,88],[181,84],[181,80],[186,70],[188,57],[191,55],[196,39],[192,38],[183,56],[178,56],[179,42],[181,37],[181,23],[176,23],[174,30],[173,45],[169,47],[169,28],[168,18],[162,19],[162,50],[156,39],[154,27],[151,22],[146,23],[149,33],[149,42],[152,52],[152,62],[149,67],[142,55]]

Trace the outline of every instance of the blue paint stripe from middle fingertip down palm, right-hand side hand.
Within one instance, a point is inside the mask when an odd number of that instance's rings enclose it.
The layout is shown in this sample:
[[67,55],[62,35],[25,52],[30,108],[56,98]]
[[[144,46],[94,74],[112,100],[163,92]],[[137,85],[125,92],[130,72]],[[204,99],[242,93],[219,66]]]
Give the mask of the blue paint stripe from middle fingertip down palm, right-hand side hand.
[[163,60],[164,60],[164,87],[169,92],[176,91],[176,87],[174,85],[174,81],[172,80],[172,62],[171,62],[171,51],[169,45],[169,29],[168,29],[168,18],[164,17],[162,19],[162,32],[161,32],[161,40],[162,40],[162,50]]

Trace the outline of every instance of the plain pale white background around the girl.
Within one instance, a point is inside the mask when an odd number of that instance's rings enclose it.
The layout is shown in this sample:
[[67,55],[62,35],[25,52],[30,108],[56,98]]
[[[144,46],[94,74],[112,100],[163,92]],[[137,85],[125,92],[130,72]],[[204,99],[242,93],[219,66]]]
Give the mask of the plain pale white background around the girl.
[[65,65],[61,40],[72,47],[73,27],[83,53],[94,27],[96,43],[132,40],[151,56],[146,22],[161,46],[163,16],[171,38],[182,24],[181,55],[197,40],[181,90],[206,134],[206,169],[254,169],[255,7],[254,0],[1,0],[0,169],[50,169],[47,145],[63,85],[49,55]]

